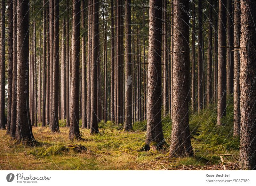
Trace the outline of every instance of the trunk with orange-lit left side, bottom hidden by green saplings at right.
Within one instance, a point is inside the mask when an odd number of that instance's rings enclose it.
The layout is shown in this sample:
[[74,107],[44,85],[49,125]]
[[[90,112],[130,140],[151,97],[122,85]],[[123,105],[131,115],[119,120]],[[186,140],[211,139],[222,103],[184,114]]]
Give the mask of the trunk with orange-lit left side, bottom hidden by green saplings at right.
[[219,34],[218,34],[218,108],[217,124],[222,125],[222,116],[226,116],[226,6],[227,1],[219,1]]

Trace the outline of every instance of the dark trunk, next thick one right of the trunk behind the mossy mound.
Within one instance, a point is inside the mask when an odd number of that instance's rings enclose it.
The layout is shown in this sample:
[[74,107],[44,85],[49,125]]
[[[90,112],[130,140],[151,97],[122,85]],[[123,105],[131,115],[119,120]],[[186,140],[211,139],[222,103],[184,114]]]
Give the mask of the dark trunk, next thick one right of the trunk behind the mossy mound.
[[91,66],[91,131],[90,133],[98,133],[97,119],[97,71],[98,71],[98,32],[99,32],[99,1],[93,0],[92,14],[92,66]]

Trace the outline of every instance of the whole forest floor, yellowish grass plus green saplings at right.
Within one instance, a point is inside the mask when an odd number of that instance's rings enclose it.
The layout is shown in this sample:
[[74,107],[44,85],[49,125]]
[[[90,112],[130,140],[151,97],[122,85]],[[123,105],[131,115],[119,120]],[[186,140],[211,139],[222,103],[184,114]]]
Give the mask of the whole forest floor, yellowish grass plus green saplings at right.
[[99,123],[100,134],[90,135],[81,129],[84,141],[68,139],[69,128],[60,121],[60,132],[33,127],[34,147],[14,145],[12,139],[0,130],[1,170],[223,170],[218,154],[224,157],[228,170],[239,169],[239,139],[233,138],[233,106],[227,107],[225,126],[216,125],[216,105],[200,113],[190,114],[191,142],[194,157],[169,158],[172,122],[163,118],[164,138],[167,144],[159,151],[139,151],[145,141],[146,121],[136,122],[134,131],[124,132],[122,126]]

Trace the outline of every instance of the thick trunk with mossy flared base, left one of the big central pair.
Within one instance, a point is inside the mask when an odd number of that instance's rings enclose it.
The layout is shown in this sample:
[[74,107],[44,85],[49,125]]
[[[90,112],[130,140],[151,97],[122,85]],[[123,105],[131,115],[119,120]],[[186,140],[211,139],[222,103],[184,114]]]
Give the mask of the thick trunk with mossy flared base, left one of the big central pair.
[[[160,7],[160,9],[154,8]],[[161,27],[162,1],[149,1],[149,38],[148,38],[148,113],[145,150],[157,148],[153,142],[164,142],[161,119]],[[155,29],[155,28],[159,28]],[[151,146],[153,145],[153,146]]]

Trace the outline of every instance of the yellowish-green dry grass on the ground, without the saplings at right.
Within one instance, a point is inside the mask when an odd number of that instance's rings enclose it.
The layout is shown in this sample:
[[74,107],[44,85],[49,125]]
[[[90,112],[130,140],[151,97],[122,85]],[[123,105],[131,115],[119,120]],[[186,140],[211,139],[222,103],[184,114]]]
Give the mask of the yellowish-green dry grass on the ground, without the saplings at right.
[[[60,133],[51,133],[48,128],[33,127],[39,144],[28,147],[14,145],[12,139],[0,131],[1,170],[223,170],[219,162],[212,162],[196,154],[193,158],[170,159],[162,151],[138,151],[144,142],[145,131],[123,132],[115,128],[101,130],[90,135],[82,129],[84,141],[70,141],[66,127]],[[192,139],[192,142],[195,141]],[[80,144],[83,151],[67,149],[70,144]],[[229,169],[238,169],[235,164]]]

